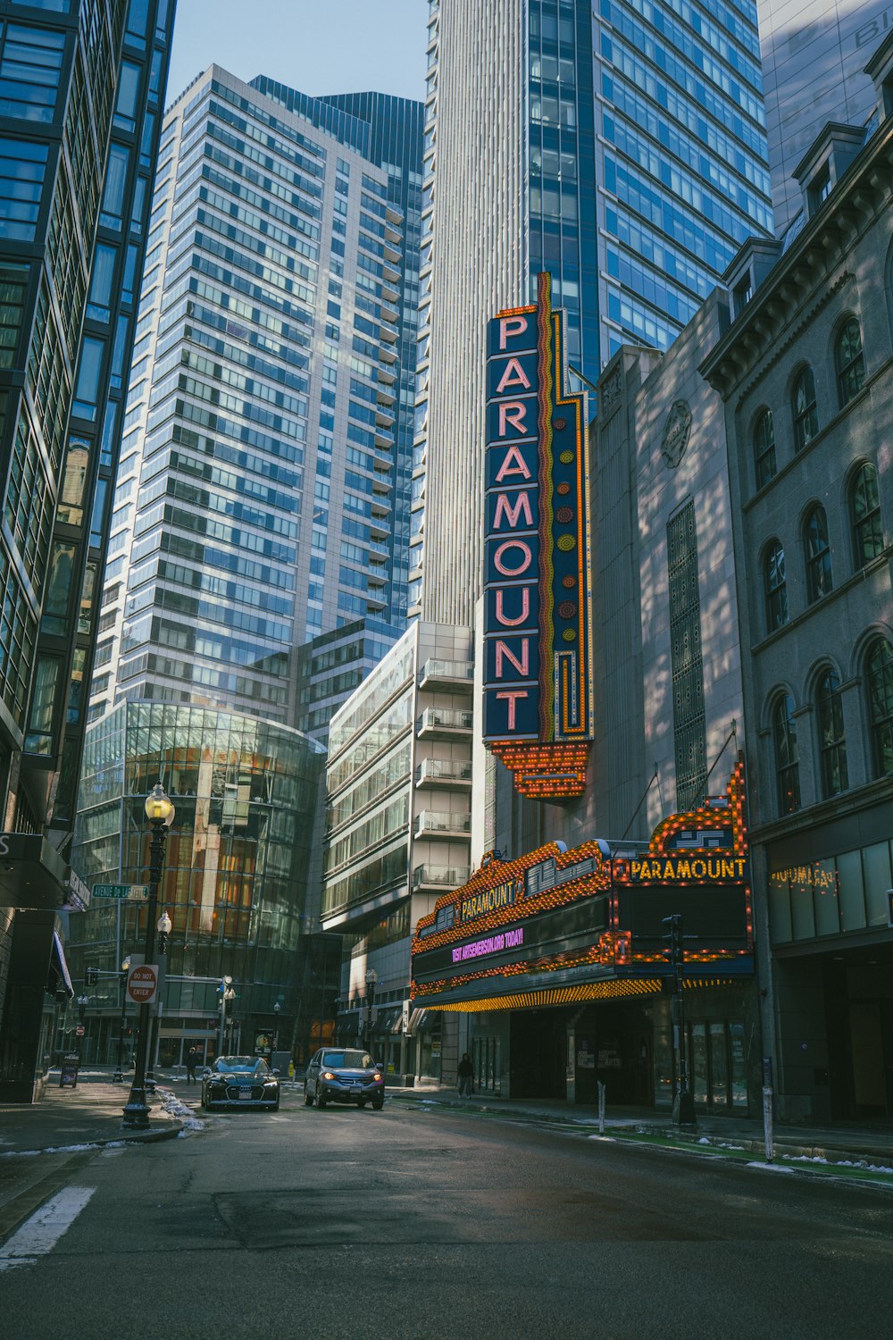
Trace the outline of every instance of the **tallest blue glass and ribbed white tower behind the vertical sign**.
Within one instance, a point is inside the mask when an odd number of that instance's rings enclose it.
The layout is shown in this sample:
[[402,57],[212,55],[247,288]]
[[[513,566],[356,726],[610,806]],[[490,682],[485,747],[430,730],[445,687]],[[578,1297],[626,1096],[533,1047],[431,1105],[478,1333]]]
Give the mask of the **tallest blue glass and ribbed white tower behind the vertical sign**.
[[550,271],[592,379],[667,348],[773,216],[750,0],[430,0],[427,52],[410,610],[462,623],[487,316]]

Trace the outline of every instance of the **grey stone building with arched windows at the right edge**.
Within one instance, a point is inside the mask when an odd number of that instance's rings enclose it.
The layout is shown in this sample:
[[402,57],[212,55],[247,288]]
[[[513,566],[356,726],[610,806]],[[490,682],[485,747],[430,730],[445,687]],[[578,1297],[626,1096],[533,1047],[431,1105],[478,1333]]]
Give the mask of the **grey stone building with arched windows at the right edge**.
[[876,129],[821,133],[801,226],[742,249],[702,364],[726,405],[763,1045],[790,1119],[893,1112],[892,68],[888,39]]

